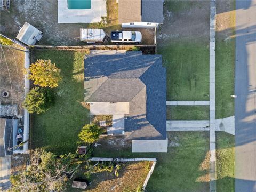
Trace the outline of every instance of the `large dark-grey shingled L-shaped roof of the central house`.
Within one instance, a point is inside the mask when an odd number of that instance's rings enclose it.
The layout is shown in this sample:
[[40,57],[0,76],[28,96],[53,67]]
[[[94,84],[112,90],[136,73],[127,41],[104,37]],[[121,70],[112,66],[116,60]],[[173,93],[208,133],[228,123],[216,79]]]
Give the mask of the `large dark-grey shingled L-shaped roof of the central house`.
[[86,55],[85,101],[129,102],[125,136],[166,139],[166,69],[161,55]]

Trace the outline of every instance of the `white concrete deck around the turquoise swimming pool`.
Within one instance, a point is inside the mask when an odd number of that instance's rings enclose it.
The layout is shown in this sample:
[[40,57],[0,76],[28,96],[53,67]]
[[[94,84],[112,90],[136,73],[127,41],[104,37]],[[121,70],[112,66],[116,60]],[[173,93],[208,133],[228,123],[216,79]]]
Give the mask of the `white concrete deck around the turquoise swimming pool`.
[[58,23],[94,23],[106,16],[106,0],[91,0],[91,9],[68,9],[67,0],[58,0]]

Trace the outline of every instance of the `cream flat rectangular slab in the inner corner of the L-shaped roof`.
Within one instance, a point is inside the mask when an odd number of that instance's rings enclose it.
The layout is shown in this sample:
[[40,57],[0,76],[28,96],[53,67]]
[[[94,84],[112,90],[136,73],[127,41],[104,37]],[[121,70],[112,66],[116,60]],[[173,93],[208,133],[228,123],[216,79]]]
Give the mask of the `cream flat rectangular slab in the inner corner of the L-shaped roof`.
[[90,102],[91,115],[129,114],[129,102]]

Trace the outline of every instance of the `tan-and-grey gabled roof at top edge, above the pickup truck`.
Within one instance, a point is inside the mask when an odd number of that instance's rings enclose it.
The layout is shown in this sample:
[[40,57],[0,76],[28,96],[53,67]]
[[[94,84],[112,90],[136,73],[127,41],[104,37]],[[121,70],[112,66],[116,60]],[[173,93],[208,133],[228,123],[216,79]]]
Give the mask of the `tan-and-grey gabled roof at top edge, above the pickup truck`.
[[164,22],[163,0],[119,0],[119,23]]

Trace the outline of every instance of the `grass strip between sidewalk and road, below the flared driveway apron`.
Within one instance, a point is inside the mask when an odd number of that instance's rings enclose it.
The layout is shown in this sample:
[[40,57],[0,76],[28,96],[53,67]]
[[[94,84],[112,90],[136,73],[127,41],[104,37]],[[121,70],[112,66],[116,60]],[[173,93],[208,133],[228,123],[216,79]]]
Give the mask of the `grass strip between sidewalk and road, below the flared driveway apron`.
[[235,191],[235,137],[225,132],[216,133],[217,191]]

